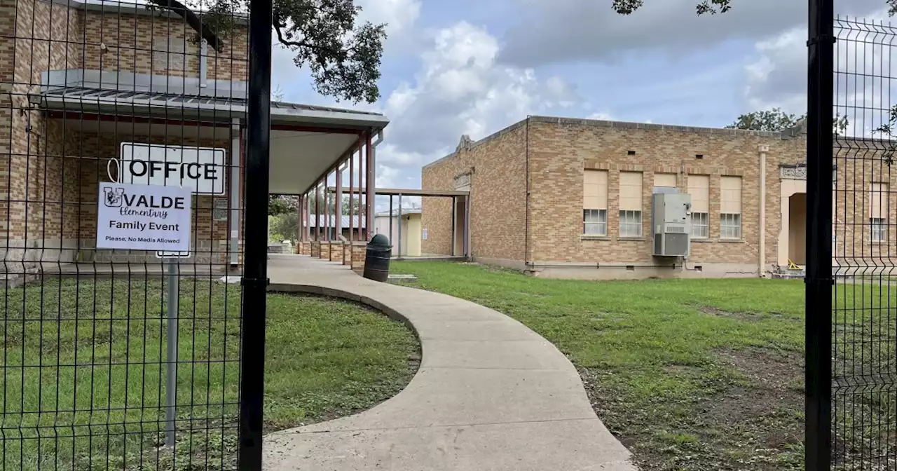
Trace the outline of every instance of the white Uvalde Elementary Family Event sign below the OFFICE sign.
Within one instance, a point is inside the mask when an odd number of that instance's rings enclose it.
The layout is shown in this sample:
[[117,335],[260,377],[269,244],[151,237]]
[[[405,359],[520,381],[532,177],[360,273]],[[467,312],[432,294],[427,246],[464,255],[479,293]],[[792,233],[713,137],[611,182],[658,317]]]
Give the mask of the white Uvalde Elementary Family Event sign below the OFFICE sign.
[[190,189],[100,183],[97,249],[187,251]]

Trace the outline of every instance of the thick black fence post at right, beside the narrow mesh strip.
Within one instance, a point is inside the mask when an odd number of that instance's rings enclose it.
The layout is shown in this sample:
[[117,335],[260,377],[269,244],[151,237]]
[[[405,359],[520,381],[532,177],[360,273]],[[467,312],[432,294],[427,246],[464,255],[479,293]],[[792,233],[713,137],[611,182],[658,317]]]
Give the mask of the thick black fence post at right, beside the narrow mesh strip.
[[832,462],[834,2],[810,0],[806,135],[806,469]]

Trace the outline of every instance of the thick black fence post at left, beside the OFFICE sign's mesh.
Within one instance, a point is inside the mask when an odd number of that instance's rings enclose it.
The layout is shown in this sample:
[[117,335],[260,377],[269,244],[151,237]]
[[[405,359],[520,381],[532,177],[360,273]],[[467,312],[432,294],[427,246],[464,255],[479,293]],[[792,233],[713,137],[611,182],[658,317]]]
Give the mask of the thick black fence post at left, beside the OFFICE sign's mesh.
[[272,0],[249,3],[246,145],[246,249],[240,359],[239,471],[262,469],[265,394],[268,163],[271,131]]

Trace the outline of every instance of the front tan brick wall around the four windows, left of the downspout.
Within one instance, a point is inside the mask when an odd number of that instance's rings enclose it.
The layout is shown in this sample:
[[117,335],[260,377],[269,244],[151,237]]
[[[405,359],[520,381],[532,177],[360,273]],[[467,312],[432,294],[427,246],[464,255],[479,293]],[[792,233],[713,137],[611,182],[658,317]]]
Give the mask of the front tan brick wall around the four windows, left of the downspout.
[[[710,237],[692,244],[691,262],[756,264],[759,250],[759,144],[771,144],[767,164],[778,169],[779,137],[756,133],[704,133],[533,122],[529,165],[530,258],[536,262],[597,262],[665,265],[651,255],[650,208],[655,173],[676,173],[681,191],[690,174],[710,175]],[[634,152],[634,155],[630,155]],[[701,154],[702,159],[695,156]],[[583,169],[608,170],[606,240],[582,240]],[[642,173],[642,232],[639,240],[619,237],[621,171]],[[719,182],[742,178],[743,240],[719,238]],[[778,196],[778,182],[768,181]],[[769,217],[767,218],[770,219]],[[778,223],[775,224],[778,227]],[[778,230],[773,230],[778,237]],[[769,231],[768,231],[769,232]],[[767,242],[775,242],[768,236]],[[771,253],[771,252],[770,252]]]

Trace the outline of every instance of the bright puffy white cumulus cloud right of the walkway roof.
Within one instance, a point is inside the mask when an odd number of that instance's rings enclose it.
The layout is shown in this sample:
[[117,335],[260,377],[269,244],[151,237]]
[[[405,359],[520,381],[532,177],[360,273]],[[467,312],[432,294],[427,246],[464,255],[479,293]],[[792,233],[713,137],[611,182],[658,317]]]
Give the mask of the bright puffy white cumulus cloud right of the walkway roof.
[[435,31],[414,83],[401,83],[386,102],[395,152],[420,165],[451,152],[461,135],[477,139],[577,100],[561,77],[541,83],[531,69],[497,64],[499,49],[468,22]]

